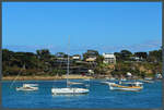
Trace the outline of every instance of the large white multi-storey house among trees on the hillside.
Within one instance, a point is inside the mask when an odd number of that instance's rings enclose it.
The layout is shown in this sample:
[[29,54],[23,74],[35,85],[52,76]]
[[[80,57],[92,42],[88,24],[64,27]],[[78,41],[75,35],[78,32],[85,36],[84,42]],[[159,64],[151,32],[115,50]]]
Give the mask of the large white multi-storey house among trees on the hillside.
[[116,57],[114,53],[103,53],[104,63],[116,63]]

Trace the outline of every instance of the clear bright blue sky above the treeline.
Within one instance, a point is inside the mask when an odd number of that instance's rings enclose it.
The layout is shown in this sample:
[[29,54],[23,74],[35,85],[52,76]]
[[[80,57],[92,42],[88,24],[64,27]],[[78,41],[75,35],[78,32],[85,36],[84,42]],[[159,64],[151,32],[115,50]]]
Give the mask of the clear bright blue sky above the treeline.
[[2,3],[2,48],[51,53],[150,51],[162,44],[161,2]]

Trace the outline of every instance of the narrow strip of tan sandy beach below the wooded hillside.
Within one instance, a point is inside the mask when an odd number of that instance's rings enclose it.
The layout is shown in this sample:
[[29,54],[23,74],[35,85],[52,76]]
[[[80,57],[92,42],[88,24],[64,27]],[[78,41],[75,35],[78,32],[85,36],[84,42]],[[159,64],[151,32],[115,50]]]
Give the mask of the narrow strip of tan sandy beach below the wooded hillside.
[[[62,76],[2,76],[1,81],[54,81],[54,80],[66,80],[67,75]],[[79,78],[94,78],[92,76],[82,76],[82,75],[69,75],[70,80],[79,80]]]

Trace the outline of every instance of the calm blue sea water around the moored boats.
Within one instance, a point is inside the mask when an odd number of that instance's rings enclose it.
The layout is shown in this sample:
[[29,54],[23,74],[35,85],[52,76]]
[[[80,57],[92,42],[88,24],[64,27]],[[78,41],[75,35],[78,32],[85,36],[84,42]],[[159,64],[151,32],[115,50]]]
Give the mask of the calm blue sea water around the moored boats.
[[[74,80],[81,82],[82,80]],[[66,81],[20,81],[2,82],[3,108],[162,108],[162,82],[144,84],[141,91],[109,90],[103,80],[90,82],[90,93],[79,96],[52,96],[51,87],[65,87]],[[37,83],[37,91],[16,91],[23,83]],[[78,86],[78,85],[77,85]],[[79,85],[80,86],[80,85]],[[80,87],[84,87],[81,85]]]

